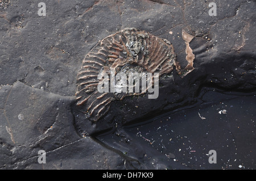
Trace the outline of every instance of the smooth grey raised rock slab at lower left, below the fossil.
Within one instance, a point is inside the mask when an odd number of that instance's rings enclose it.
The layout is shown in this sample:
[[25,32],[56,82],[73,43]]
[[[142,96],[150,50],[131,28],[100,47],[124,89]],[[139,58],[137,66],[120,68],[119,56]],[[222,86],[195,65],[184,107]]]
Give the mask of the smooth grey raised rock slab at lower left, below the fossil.
[[[1,87],[1,98],[1,169],[125,169],[118,154],[76,133],[74,97],[16,82]],[[39,150],[46,151],[45,166]]]

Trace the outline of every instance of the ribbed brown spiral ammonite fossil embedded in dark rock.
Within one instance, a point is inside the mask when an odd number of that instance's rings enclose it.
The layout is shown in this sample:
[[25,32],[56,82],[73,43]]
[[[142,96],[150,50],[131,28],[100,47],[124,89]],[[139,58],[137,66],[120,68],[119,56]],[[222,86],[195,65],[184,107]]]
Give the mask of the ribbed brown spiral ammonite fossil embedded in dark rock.
[[[103,40],[86,54],[77,74],[77,106],[82,106],[85,115],[97,121],[110,107],[113,100],[142,94],[129,92],[99,92],[99,74],[114,70],[129,73],[158,73],[159,77],[170,73],[176,64],[174,48],[168,40],[160,39],[136,28],[126,28]],[[111,77],[111,76],[110,76]]]

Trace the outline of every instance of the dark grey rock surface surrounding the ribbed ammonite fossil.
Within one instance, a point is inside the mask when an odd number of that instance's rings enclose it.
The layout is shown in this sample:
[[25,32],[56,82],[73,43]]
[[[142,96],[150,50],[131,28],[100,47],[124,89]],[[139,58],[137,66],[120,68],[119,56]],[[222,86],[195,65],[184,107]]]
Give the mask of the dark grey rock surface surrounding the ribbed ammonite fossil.
[[[44,3],[46,16],[32,1],[0,3],[1,169],[256,168],[255,1]],[[92,124],[75,106],[77,72],[99,40],[127,27],[170,41],[181,68],[186,31],[195,69],[161,79],[157,99],[113,102]]]

